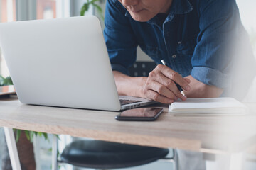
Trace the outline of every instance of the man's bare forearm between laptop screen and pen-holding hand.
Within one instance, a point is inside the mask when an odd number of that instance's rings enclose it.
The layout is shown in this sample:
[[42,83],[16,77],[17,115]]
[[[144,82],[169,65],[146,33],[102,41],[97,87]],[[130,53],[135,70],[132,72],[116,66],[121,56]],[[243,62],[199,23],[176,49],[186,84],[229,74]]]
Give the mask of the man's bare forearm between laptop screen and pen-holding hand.
[[118,71],[113,71],[113,74],[119,95],[144,97],[142,88],[146,82],[146,77],[129,77]]

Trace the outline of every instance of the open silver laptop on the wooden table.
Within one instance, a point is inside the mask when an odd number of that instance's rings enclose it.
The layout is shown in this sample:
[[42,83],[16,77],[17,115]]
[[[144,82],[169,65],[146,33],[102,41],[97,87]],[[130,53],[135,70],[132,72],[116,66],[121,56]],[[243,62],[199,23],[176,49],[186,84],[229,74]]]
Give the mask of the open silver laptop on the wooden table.
[[106,111],[155,103],[118,96],[95,16],[0,23],[0,47],[22,103]]

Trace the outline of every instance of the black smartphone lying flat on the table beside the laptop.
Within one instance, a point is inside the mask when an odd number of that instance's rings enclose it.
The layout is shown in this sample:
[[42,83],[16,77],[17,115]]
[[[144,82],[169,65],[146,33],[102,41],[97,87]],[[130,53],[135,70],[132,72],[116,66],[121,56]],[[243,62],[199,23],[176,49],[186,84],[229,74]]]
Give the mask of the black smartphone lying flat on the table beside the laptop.
[[164,111],[163,108],[133,108],[119,113],[117,120],[153,121]]

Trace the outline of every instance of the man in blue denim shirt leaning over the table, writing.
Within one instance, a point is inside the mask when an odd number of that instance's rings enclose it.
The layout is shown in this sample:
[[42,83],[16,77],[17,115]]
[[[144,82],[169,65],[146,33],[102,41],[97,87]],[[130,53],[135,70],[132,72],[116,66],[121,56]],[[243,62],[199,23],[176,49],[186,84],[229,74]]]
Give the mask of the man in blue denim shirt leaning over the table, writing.
[[[252,79],[242,72],[255,64],[235,0],[108,0],[104,35],[120,95],[161,103],[230,96]],[[138,45],[159,64],[149,77],[128,76]]]

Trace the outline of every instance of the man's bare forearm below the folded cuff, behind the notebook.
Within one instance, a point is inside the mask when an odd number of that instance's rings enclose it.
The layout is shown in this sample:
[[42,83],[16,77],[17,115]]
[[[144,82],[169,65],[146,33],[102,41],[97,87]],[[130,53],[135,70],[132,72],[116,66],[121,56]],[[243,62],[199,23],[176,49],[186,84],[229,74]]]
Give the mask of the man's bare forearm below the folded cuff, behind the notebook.
[[191,90],[184,91],[188,98],[219,97],[223,93],[223,89],[203,84],[201,81],[194,79],[191,75],[186,78],[191,80]]

